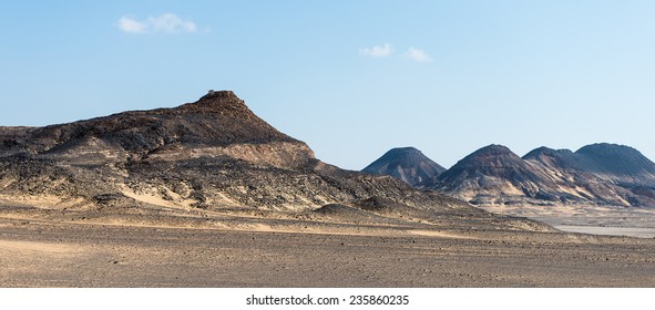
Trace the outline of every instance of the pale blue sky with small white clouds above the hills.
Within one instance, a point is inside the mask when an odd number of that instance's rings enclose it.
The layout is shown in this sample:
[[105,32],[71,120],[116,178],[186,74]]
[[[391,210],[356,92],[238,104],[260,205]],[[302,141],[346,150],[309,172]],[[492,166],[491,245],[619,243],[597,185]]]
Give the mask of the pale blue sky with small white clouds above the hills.
[[318,158],[610,142],[655,159],[655,1],[0,1],[0,125],[233,90]]

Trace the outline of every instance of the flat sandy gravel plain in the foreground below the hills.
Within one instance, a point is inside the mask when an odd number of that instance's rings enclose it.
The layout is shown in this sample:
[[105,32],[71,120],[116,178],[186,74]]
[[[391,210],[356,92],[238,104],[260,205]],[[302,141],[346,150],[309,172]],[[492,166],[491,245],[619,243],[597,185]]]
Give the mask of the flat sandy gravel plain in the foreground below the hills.
[[[2,287],[655,287],[655,240],[0,217]],[[288,227],[285,229],[284,227]]]

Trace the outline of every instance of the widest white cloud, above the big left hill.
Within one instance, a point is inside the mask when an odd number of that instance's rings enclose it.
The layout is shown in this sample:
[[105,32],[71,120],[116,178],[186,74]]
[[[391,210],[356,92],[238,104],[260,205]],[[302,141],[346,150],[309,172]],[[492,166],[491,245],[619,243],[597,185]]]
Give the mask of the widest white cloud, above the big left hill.
[[143,21],[122,17],[119,20],[117,27],[127,33],[181,33],[197,31],[197,27],[193,21],[183,20],[173,13],[165,13],[156,18],[151,17]]

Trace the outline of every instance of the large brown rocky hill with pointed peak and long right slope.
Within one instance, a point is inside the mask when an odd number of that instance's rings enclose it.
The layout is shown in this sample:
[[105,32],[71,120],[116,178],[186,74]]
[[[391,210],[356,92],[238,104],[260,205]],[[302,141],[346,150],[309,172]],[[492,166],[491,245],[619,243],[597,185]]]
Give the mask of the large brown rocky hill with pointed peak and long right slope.
[[[344,206],[336,213],[379,211],[367,209],[366,202],[376,202],[383,217],[389,217],[387,209],[402,206],[395,219],[402,223],[413,214],[422,223],[450,226],[458,220],[464,227],[540,227],[416,190],[389,176],[325,164],[229,91],[211,91],[173,108],[0,127],[0,211],[10,216],[39,211],[68,220],[111,215],[139,221],[146,216],[283,211],[313,218],[324,214],[314,210],[335,204]],[[330,217],[351,219],[327,209]]]

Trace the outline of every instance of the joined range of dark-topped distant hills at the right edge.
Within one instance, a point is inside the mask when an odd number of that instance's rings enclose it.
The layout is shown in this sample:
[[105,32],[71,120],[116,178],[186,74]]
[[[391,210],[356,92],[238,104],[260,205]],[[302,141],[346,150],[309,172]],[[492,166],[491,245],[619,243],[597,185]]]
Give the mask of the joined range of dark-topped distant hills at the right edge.
[[614,144],[573,153],[540,147],[522,158],[499,145],[483,147],[427,187],[472,204],[655,207],[655,164]]

